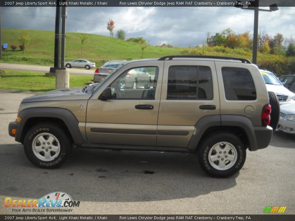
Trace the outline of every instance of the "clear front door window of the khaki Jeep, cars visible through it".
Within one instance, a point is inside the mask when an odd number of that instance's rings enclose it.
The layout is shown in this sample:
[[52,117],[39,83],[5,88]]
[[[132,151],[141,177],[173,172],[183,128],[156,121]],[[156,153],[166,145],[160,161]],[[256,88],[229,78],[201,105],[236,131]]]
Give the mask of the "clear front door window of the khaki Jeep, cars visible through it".
[[[140,70],[145,69],[146,72]],[[138,67],[123,72],[110,84],[112,99],[155,99],[158,67]]]

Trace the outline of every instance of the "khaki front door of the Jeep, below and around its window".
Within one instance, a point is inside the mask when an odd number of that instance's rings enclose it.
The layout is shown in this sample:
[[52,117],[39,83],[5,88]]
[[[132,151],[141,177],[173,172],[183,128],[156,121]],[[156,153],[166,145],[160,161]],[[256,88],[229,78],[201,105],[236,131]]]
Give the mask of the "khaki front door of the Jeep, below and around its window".
[[[114,73],[118,77],[110,76],[106,79],[114,80],[105,82],[104,88],[99,89],[102,92],[106,87],[111,87],[112,98],[104,101],[94,96],[88,101],[85,131],[89,142],[112,145],[156,145],[161,94],[159,76],[163,73],[163,61],[159,61],[158,64],[125,68],[122,74]],[[136,68],[148,68],[155,75],[155,80],[149,88],[128,86],[129,81],[134,81],[129,79],[132,75],[128,72],[134,72]]]

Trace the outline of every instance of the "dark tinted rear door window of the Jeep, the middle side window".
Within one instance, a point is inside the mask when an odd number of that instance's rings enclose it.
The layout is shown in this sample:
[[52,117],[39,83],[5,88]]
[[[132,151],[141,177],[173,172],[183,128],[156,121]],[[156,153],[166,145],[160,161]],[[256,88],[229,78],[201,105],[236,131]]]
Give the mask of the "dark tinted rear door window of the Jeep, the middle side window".
[[207,66],[169,67],[167,99],[212,100],[211,69]]

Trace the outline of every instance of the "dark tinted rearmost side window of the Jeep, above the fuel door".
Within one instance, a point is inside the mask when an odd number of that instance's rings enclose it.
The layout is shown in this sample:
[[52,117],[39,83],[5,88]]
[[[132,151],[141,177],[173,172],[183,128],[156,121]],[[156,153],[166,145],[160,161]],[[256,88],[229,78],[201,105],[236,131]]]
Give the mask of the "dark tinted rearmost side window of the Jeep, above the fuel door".
[[221,68],[227,100],[256,100],[256,89],[251,73],[246,68]]

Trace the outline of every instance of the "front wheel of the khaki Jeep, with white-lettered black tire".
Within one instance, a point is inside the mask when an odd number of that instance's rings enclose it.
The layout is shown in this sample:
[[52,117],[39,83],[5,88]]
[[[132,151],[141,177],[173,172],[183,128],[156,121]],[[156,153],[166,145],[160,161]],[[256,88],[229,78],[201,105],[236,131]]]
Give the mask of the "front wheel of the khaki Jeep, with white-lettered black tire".
[[[49,135],[47,136],[46,134],[49,134]],[[52,138],[53,137],[56,138],[56,139],[53,139],[51,144],[50,142],[47,142],[47,143],[43,142],[43,144],[39,142],[38,138],[44,139],[46,137],[50,138],[50,136]],[[33,150],[33,142],[35,147],[37,146],[40,149],[42,148],[41,152],[36,153],[36,150]],[[53,151],[55,146],[58,146],[57,148],[59,149],[58,153]],[[68,155],[71,151],[71,147],[72,147],[72,143],[70,142],[69,134],[66,133],[64,130],[62,130],[59,125],[54,123],[48,123],[48,122],[39,123],[31,127],[24,138],[24,149],[25,149],[26,156],[28,157],[31,163],[41,168],[53,169],[53,168],[57,168],[61,166],[68,158]],[[42,160],[40,158],[42,157],[45,158],[45,150],[47,151],[47,153],[49,152],[51,156],[47,160],[46,159]]]

